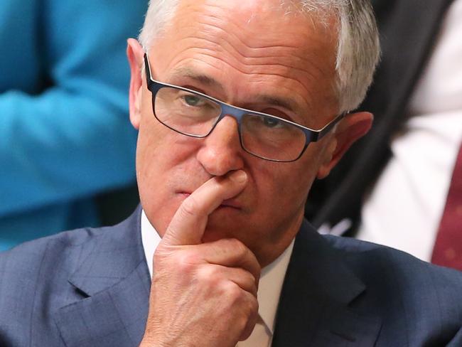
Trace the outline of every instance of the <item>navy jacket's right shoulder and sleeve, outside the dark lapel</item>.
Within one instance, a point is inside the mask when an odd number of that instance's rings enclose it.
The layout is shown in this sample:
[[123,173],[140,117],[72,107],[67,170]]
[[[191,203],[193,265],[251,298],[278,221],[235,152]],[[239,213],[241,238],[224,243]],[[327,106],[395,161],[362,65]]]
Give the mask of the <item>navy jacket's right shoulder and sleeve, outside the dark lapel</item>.
[[405,332],[407,346],[462,346],[462,272],[390,247],[324,237],[365,284],[358,311],[373,307],[382,316],[377,346],[397,346],[388,340],[396,331]]

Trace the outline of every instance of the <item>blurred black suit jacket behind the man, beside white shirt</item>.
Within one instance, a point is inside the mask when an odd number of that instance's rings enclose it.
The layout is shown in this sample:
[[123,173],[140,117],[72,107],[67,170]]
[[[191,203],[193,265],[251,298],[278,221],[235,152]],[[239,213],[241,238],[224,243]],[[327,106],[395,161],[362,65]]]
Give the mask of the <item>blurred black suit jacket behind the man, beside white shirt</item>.
[[406,107],[431,56],[444,14],[453,0],[372,0],[382,60],[360,110],[375,114],[369,134],[345,154],[331,175],[317,181],[306,217],[318,228],[359,222],[362,199],[391,157],[390,141],[404,124]]

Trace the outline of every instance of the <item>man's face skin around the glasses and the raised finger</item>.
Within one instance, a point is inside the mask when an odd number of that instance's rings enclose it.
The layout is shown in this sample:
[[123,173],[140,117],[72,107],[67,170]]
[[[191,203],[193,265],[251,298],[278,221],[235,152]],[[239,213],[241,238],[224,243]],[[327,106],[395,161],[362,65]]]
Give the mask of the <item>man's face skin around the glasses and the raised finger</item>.
[[[278,3],[181,1],[149,51],[153,78],[306,127],[323,127],[338,111],[335,30],[304,16],[284,15]],[[205,139],[195,139],[154,117],[146,80],[134,100],[141,204],[156,230],[163,235],[178,206],[205,181],[240,169],[247,173],[247,186],[210,215],[203,241],[236,237],[262,265],[281,254],[299,229],[311,183],[331,161],[333,136],[310,144],[298,161],[276,163],[241,148],[232,117],[222,119]]]

